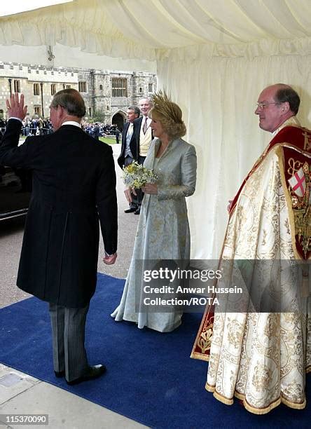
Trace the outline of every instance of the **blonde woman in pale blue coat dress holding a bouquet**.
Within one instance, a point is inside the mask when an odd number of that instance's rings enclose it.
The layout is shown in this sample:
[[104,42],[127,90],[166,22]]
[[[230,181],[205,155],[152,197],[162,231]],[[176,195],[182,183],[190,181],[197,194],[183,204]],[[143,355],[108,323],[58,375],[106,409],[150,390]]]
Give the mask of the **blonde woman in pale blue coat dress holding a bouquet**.
[[[144,166],[154,169],[158,175],[156,184],[146,184],[134,252],[127,274],[119,306],[111,314],[116,321],[136,322],[139,328],[149,327],[160,332],[170,332],[181,324],[182,311],[144,305],[147,294],[144,286],[172,285],[169,280],[144,282],[146,269],[157,269],[157,261],[190,259],[190,231],[187,216],[186,196],[195,191],[195,148],[181,137],[186,134],[181,109],[159,91],[153,96],[151,128],[155,139],[151,142]],[[125,196],[130,202],[130,189]],[[151,262],[152,261],[152,262]],[[168,262],[172,267],[172,263]],[[145,279],[146,280],[146,279]],[[152,294],[150,297],[161,297]],[[172,298],[173,295],[168,297]]]

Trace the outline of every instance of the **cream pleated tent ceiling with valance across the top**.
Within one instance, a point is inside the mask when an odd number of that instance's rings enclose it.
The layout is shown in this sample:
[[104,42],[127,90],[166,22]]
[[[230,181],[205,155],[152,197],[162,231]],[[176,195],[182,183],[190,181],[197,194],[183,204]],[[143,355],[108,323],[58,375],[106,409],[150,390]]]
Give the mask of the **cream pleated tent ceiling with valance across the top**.
[[0,44],[153,61],[303,55],[310,0],[76,0],[0,18]]

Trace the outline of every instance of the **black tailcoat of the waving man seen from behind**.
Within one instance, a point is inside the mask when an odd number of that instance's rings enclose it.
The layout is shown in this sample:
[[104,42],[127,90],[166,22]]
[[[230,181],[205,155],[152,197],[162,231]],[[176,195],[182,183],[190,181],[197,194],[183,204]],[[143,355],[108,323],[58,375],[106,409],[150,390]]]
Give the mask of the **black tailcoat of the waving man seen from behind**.
[[75,125],[27,137],[8,121],[0,163],[32,170],[32,198],[22,243],[18,287],[69,308],[95,292],[99,222],[107,253],[117,247],[116,173],[111,147]]

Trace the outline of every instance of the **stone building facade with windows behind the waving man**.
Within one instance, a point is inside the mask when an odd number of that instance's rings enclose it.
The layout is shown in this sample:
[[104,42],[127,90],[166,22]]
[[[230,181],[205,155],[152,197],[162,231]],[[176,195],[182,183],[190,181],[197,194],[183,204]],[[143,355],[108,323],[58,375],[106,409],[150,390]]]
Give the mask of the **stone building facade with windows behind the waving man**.
[[0,118],[6,118],[6,99],[25,95],[30,117],[48,117],[53,95],[75,88],[85,100],[85,121],[116,123],[122,128],[126,110],[157,89],[155,74],[144,71],[70,69],[0,62]]

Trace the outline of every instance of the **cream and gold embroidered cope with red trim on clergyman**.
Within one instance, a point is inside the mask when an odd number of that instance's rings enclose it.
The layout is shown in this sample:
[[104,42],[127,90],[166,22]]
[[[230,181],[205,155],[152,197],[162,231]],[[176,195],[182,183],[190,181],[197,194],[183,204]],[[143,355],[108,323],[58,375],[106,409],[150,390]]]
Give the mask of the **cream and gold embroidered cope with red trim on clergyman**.
[[[296,118],[290,118],[276,135],[286,126],[289,132],[298,132],[294,127],[304,132]],[[310,132],[306,132],[310,138]],[[307,163],[305,189],[308,188],[311,154],[306,146],[300,150],[286,141],[268,148],[239,191],[230,214],[220,266],[223,261],[268,261],[268,266],[274,269],[268,271],[267,266],[263,266],[257,275],[261,275],[263,291],[277,278],[282,291],[282,310],[250,309],[234,313],[208,308],[191,355],[209,360],[205,388],[213,392],[216,399],[233,404],[233,397],[238,397],[244,407],[255,414],[265,414],[281,402],[303,409],[305,373],[311,370],[311,273],[309,275],[306,262],[302,270],[297,264],[303,260],[298,252],[302,241],[294,214],[295,198],[299,200],[299,197],[294,195],[287,179]],[[290,158],[284,156],[287,149],[291,150],[289,155],[294,162],[296,154],[303,156],[303,163],[296,164],[292,171],[289,171]],[[304,219],[309,219],[309,189],[307,192],[300,198],[306,201],[307,196]],[[310,229],[309,221],[306,222],[305,231]],[[310,236],[308,231],[305,233]],[[301,252],[309,257],[308,251]],[[289,262],[286,275],[279,261]]]

